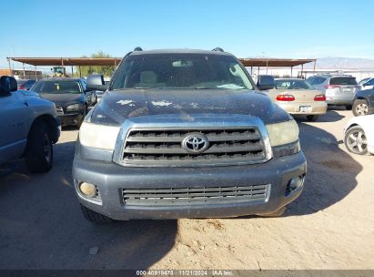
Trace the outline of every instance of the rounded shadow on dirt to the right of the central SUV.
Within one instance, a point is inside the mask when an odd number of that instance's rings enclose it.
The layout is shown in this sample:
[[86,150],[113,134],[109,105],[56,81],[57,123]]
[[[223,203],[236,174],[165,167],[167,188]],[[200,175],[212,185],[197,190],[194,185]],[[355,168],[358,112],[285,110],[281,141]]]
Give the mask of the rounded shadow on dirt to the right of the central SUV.
[[343,200],[358,185],[356,177],[362,166],[339,149],[339,141],[334,136],[316,125],[298,122],[308,174],[302,195],[288,205],[286,216],[327,209]]

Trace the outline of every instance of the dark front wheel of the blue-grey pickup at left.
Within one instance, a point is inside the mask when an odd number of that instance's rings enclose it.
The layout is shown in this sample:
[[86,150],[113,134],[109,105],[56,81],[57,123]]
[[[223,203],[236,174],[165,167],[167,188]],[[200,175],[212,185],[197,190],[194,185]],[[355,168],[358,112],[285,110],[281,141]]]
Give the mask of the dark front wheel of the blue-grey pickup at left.
[[33,173],[44,173],[52,169],[52,140],[43,121],[35,122],[30,129],[25,150],[25,163]]

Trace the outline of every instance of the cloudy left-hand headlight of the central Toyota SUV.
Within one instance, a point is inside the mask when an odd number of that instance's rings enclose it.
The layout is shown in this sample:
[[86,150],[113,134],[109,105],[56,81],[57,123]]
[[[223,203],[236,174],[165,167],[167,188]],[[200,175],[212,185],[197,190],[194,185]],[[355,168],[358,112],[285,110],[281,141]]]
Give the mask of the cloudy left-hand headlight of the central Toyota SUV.
[[83,122],[79,129],[79,140],[84,146],[113,150],[118,132],[119,127]]

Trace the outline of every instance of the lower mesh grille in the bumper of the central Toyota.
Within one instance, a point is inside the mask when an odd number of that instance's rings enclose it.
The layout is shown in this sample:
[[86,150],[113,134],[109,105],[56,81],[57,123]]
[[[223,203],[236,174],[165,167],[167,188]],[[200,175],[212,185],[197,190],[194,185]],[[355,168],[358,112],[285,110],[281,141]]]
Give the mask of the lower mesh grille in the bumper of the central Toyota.
[[126,205],[167,206],[238,203],[264,201],[270,185],[235,187],[167,188],[167,189],[122,189]]

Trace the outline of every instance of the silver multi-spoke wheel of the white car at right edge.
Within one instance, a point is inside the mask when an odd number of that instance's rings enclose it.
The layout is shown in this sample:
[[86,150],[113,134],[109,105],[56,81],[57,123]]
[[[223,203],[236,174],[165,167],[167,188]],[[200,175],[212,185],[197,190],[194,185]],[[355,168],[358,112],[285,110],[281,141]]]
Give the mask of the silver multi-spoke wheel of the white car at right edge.
[[349,128],[344,136],[344,144],[349,152],[366,155],[368,153],[368,139],[365,132],[359,126]]

